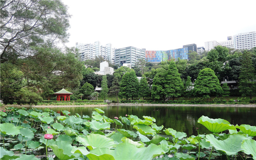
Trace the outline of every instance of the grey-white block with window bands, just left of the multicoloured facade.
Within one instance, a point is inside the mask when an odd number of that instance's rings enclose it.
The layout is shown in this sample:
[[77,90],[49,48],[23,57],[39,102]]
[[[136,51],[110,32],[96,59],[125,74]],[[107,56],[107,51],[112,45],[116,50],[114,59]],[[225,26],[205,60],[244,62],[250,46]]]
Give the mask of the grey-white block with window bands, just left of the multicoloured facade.
[[145,50],[135,47],[115,49],[115,64],[130,63],[134,66],[139,59],[145,59]]

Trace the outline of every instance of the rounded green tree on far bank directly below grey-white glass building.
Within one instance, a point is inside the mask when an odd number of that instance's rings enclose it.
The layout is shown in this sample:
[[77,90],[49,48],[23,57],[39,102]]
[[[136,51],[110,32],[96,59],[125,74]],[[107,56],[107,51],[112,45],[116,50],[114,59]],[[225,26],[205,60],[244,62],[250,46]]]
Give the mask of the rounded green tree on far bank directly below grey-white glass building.
[[138,95],[138,85],[139,81],[135,71],[131,69],[131,72],[126,72],[122,78],[119,95],[125,97],[126,100],[132,97],[133,100],[133,97]]

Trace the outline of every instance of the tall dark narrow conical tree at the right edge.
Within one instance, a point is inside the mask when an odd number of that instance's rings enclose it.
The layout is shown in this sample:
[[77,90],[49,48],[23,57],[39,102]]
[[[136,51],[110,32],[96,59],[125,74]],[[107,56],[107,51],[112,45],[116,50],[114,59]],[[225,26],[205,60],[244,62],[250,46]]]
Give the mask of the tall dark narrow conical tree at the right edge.
[[239,76],[239,92],[242,93],[242,96],[250,96],[250,100],[252,100],[252,95],[256,94],[256,74],[252,57],[252,52],[244,51]]

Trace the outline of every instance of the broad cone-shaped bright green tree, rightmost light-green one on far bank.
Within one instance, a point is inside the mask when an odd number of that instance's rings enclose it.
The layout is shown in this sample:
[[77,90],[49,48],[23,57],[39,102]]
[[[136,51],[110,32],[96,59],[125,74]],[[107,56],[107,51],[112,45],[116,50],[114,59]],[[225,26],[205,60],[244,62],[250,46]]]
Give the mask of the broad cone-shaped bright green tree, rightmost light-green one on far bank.
[[220,95],[222,89],[220,82],[211,68],[202,69],[194,85],[195,95],[210,98],[211,95]]

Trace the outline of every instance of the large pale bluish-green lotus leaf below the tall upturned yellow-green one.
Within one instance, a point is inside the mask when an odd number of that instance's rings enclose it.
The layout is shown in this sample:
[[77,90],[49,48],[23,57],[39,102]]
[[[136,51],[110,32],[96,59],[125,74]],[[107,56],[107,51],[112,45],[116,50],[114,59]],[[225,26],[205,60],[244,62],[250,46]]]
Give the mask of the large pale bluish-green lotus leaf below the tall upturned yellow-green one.
[[205,136],[205,140],[209,141],[211,146],[225,152],[228,156],[237,155],[237,152],[242,151],[241,143],[246,139],[248,138],[241,134],[230,135],[226,140],[217,140],[213,134]]

